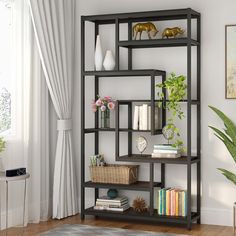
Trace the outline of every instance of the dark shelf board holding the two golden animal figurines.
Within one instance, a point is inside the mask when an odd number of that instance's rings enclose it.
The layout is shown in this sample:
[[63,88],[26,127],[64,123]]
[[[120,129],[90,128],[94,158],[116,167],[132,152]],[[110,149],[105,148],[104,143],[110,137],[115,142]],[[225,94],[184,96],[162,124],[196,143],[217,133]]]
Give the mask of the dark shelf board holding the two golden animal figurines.
[[119,41],[118,45],[126,48],[184,47],[188,45],[188,42],[192,46],[199,45],[196,40],[191,39],[188,41],[187,38],[128,40]]

